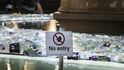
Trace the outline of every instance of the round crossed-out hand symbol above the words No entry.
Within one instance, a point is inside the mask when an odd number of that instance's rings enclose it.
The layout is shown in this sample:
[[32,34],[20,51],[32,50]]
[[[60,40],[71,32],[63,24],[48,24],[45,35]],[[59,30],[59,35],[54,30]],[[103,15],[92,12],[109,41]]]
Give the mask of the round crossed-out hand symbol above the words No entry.
[[65,36],[62,33],[60,33],[60,32],[55,33],[53,35],[53,42],[56,45],[62,45],[65,42]]

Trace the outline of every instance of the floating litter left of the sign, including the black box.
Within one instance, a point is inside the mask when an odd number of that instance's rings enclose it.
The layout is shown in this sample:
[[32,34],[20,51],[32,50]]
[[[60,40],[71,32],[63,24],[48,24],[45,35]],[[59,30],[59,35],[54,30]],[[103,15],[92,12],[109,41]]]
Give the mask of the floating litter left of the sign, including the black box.
[[0,28],[0,52],[41,56],[45,51],[45,33],[34,29]]

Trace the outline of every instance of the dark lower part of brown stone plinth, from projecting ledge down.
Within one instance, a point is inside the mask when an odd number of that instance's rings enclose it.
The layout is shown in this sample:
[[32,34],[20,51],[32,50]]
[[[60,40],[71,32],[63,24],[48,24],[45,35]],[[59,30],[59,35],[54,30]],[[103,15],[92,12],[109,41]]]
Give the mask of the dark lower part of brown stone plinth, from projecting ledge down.
[[124,34],[124,14],[61,13],[55,19],[66,31]]

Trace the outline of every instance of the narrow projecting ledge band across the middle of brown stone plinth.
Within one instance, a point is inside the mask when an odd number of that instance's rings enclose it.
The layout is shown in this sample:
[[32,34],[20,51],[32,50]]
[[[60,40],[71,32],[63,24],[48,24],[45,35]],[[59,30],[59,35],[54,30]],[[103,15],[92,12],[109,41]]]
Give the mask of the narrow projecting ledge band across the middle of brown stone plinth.
[[59,20],[102,20],[102,21],[124,21],[124,13],[60,13],[54,14]]

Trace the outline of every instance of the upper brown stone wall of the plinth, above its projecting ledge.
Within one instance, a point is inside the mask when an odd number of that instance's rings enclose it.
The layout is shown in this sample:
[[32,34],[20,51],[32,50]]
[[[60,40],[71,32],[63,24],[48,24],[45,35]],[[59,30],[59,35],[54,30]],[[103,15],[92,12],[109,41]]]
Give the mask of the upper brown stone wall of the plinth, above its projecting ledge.
[[124,0],[61,0],[59,11],[124,11]]

